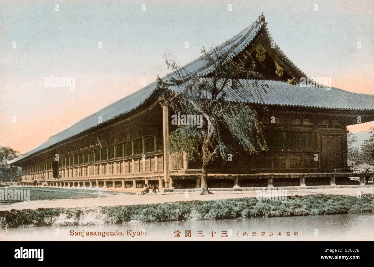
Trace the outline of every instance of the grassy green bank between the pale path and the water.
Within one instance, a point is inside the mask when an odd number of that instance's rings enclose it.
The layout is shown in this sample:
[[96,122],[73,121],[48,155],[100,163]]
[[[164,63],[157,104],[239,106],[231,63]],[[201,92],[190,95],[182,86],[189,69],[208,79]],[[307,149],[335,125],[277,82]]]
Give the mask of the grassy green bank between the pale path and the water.
[[167,222],[373,212],[374,194],[364,194],[361,198],[344,195],[297,195],[288,197],[287,201],[283,202],[232,198],[129,206],[12,209],[0,211],[0,227],[104,225],[129,221]]

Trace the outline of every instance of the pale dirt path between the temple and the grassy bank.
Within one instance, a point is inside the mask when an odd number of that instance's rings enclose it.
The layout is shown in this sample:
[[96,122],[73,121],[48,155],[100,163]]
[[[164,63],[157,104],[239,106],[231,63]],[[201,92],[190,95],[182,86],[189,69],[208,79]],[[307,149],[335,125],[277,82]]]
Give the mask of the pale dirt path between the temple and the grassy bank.
[[[83,199],[59,199],[59,200],[35,200],[28,203],[16,202],[0,206],[0,210],[11,209],[38,209],[38,208],[74,208],[74,207],[99,207],[99,206],[121,206],[134,204],[154,204],[175,201],[192,201],[192,200],[217,200],[240,197],[256,197],[256,191],[212,191],[212,195],[200,195],[200,192],[185,193],[157,193],[149,195],[130,195],[116,194],[105,195],[105,197],[83,198]],[[333,195],[354,195],[374,194],[374,187],[356,187],[356,188],[321,188],[321,189],[298,189],[287,190],[287,196],[292,195],[311,195],[311,194],[333,194]]]

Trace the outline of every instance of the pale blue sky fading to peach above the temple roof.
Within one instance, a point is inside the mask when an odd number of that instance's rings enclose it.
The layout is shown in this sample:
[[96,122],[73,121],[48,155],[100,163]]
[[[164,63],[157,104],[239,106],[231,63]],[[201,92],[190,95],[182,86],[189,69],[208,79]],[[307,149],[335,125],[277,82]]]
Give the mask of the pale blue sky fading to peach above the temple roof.
[[[0,1],[0,146],[30,151],[140,89],[142,79],[165,75],[165,52],[186,64],[261,12],[277,45],[305,73],[374,94],[373,7],[371,0]],[[50,75],[74,77],[74,91],[45,88]]]

